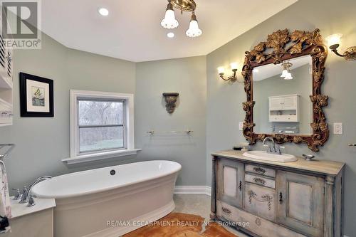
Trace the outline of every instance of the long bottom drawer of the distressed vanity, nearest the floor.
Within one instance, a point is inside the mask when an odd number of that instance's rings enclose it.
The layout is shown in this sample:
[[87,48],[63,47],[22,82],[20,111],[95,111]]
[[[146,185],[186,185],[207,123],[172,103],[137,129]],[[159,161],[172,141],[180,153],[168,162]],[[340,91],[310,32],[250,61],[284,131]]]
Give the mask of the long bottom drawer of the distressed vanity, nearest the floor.
[[244,228],[261,237],[306,237],[221,201],[216,202],[216,215],[233,222],[237,228]]

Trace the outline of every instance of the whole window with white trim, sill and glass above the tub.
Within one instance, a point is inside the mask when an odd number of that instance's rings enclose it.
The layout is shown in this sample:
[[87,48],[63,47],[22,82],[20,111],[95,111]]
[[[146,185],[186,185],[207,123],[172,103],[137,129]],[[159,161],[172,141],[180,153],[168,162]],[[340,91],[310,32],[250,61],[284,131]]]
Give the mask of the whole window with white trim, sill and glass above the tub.
[[70,90],[70,158],[63,161],[135,154],[133,111],[132,94]]

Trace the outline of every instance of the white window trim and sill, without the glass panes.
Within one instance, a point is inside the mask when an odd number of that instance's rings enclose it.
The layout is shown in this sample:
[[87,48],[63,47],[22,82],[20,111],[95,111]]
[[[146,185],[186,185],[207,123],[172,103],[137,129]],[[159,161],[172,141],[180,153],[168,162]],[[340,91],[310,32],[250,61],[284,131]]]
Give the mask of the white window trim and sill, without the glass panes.
[[[79,128],[78,128],[78,100],[80,99],[99,100],[125,100],[125,148],[112,149],[98,152],[79,151]],[[125,93],[108,93],[88,90],[70,90],[70,158],[62,159],[68,164],[88,162],[98,159],[108,159],[136,154],[134,137],[134,95]]]

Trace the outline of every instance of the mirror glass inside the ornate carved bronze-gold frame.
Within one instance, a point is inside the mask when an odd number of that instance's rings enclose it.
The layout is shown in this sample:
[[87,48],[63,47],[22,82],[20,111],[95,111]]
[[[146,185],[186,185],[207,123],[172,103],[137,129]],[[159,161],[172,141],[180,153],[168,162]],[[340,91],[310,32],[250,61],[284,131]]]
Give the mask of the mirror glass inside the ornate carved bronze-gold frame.
[[312,135],[311,56],[253,68],[255,133]]

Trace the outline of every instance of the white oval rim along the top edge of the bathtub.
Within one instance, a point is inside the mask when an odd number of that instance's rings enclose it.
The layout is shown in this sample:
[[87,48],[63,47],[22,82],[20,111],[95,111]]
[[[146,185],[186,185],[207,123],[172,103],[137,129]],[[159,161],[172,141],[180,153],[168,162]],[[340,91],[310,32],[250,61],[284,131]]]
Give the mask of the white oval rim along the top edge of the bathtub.
[[[95,190],[89,190],[89,191],[82,191],[82,192],[77,192],[75,194],[63,194],[63,195],[49,195],[49,194],[41,194],[36,192],[36,187],[41,188],[41,186],[43,186],[43,184],[46,184],[48,182],[54,181],[54,179],[58,179],[59,177],[71,177],[71,176],[75,176],[78,174],[85,174],[85,173],[89,173],[89,172],[93,172],[93,170],[102,170],[102,169],[112,169],[115,167],[120,167],[120,166],[125,166],[125,165],[132,165],[132,164],[139,164],[139,163],[150,163],[150,162],[169,162],[171,164],[177,165],[177,167],[174,167],[174,169],[172,169],[172,171],[169,172],[165,172],[164,174],[157,174],[157,176],[155,177],[151,177],[148,179],[140,179],[138,181],[131,181],[131,182],[127,182],[125,184],[117,184],[117,185],[112,185],[112,186],[106,186],[100,189],[95,189]],[[174,162],[174,161],[169,161],[169,160],[159,160],[159,159],[155,159],[155,160],[150,160],[150,161],[145,161],[145,162],[132,162],[132,163],[128,163],[128,164],[119,164],[119,165],[115,165],[115,166],[111,166],[111,167],[102,167],[102,168],[97,168],[97,169],[87,169],[87,170],[83,170],[80,172],[73,172],[73,173],[69,173],[69,174],[62,174],[62,175],[58,175],[56,177],[53,177],[52,179],[48,179],[45,181],[41,181],[40,183],[36,184],[35,186],[33,186],[33,189],[31,189],[31,194],[38,196],[38,198],[41,199],[67,199],[67,198],[72,198],[72,197],[77,197],[77,196],[84,196],[84,195],[89,195],[89,194],[96,194],[96,193],[100,193],[100,192],[104,192],[104,191],[109,191],[112,189],[119,189],[125,186],[130,186],[130,185],[135,185],[135,184],[139,184],[145,181],[151,181],[154,179],[159,179],[162,177],[166,177],[169,176],[171,174],[174,173],[178,173],[180,170],[182,169],[182,164],[179,164],[178,162]]]

